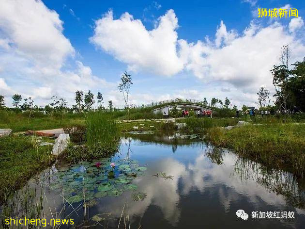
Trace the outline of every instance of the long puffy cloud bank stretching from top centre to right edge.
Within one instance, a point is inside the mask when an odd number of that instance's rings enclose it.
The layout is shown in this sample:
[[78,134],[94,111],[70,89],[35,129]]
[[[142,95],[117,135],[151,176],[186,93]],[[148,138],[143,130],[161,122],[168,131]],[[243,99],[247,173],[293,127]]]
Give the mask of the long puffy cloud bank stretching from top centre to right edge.
[[[303,20],[295,19],[290,21],[290,32],[302,26]],[[252,96],[260,86],[273,89],[270,69],[278,62],[283,45],[290,44],[294,51],[292,61],[303,59],[305,52],[301,38],[278,21],[267,26],[251,21],[239,34],[228,30],[221,20],[214,40],[206,38],[195,43],[178,39],[178,28],[173,10],[161,16],[151,31],[127,12],[114,19],[109,11],[95,21],[91,42],[126,63],[130,70],[165,76],[187,71],[203,82],[229,83],[239,93]]]

